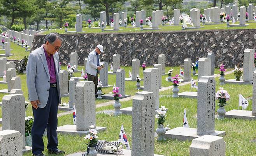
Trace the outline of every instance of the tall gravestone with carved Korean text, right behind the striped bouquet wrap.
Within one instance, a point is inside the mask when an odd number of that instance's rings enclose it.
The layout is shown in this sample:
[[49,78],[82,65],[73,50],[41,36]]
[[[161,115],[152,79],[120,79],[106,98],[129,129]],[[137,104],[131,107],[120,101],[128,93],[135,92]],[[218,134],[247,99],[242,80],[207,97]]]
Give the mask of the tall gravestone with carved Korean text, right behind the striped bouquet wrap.
[[155,97],[142,91],[133,98],[132,156],[154,155]]

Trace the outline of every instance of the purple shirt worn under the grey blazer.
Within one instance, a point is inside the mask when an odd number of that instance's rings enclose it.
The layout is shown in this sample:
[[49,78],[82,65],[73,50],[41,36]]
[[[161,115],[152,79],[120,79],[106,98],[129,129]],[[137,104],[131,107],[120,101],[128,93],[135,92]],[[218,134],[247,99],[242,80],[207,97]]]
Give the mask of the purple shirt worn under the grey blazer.
[[56,83],[56,74],[55,74],[55,64],[54,64],[54,59],[53,55],[50,54],[50,56],[46,53],[46,50],[44,49],[44,54],[46,55],[46,61],[47,61],[47,66],[49,69],[49,74],[50,74],[50,81],[51,83]]

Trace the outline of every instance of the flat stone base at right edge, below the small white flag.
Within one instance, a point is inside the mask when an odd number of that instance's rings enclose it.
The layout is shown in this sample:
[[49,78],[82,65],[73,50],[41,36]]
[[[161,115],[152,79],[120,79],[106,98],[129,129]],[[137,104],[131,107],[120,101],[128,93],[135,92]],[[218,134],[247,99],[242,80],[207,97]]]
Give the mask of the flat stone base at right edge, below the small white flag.
[[256,120],[256,116],[252,116],[252,111],[250,110],[238,110],[233,109],[225,114],[226,118],[234,118],[234,119],[247,119],[247,120]]

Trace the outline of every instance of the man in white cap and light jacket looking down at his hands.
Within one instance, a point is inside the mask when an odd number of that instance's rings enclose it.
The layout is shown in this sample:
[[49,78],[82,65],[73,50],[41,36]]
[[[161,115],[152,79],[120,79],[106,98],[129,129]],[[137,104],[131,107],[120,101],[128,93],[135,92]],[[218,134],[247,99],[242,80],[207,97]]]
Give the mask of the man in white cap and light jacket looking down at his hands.
[[88,76],[88,81],[93,81],[95,84],[95,97],[98,96],[98,74],[100,73],[100,70],[104,68],[103,66],[100,66],[101,53],[104,53],[103,46],[99,44],[93,51],[89,53],[85,70]]

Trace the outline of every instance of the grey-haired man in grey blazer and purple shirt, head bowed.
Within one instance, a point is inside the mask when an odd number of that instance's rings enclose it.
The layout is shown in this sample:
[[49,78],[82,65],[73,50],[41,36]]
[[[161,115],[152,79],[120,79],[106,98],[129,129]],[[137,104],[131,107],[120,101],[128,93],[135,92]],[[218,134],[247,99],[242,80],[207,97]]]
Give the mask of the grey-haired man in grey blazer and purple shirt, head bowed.
[[58,103],[61,103],[59,55],[63,39],[57,33],[50,33],[44,44],[32,51],[28,57],[26,78],[28,98],[32,104],[34,122],[32,126],[32,154],[45,156],[43,134],[47,128],[47,149],[49,153],[60,154],[57,148]]

